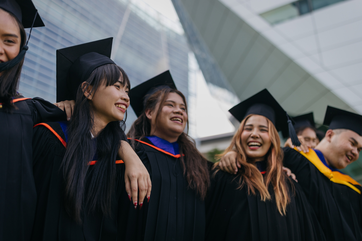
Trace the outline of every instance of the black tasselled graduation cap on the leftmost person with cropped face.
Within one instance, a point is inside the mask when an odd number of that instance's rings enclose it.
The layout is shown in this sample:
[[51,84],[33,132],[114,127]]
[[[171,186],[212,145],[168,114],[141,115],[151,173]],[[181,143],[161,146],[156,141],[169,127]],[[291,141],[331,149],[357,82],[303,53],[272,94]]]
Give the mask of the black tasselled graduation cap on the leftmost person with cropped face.
[[[31,28],[29,32],[29,38],[33,27],[44,27],[44,23],[38,14],[38,10],[35,8],[31,0],[0,0],[0,8],[5,11],[14,14],[18,20],[22,23],[25,29]],[[18,64],[25,56],[28,50],[28,42],[22,47],[18,55],[7,62],[0,63],[0,72],[9,70]]]

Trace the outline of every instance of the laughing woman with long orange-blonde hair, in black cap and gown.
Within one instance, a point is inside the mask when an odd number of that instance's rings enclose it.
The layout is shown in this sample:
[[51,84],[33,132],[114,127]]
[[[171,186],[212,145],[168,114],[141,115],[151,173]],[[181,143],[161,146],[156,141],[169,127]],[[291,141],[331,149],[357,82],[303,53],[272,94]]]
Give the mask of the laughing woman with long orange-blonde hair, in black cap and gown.
[[206,199],[205,240],[325,240],[307,199],[282,171],[279,130],[287,115],[267,90],[233,107],[241,122],[230,146],[240,168],[222,172],[218,163]]

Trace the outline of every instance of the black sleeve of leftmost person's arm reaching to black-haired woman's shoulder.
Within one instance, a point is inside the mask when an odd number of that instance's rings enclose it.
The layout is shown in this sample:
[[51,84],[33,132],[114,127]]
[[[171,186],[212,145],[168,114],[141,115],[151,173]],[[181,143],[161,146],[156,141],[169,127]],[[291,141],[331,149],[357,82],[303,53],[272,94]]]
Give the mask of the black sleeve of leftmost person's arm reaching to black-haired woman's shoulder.
[[66,112],[49,101],[38,97],[25,101],[29,106],[34,125],[41,122],[67,120]]

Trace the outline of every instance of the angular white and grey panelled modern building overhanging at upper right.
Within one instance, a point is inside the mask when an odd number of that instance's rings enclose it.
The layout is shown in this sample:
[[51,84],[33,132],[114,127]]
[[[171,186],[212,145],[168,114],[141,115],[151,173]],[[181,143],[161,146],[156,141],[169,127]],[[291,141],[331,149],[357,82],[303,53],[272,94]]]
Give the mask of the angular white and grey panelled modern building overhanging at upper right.
[[[313,111],[318,124],[327,105],[362,114],[360,0],[172,2],[212,85],[240,99],[267,88],[291,115]],[[362,158],[345,172],[361,181]]]

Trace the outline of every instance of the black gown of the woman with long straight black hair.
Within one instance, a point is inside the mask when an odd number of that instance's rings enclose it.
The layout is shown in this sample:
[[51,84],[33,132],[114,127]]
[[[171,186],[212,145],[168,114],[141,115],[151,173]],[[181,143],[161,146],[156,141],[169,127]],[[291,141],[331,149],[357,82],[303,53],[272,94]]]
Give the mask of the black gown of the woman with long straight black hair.
[[[48,122],[60,137],[64,132],[58,122]],[[126,137],[124,140],[127,140]],[[62,142],[45,126],[34,128],[33,160],[34,179],[38,195],[32,240],[36,241],[98,241],[119,240],[122,233],[120,194],[125,192],[125,165],[116,164],[118,180],[113,193],[111,216],[100,213],[83,212],[82,225],[73,221],[63,206],[63,172],[60,165],[66,148]],[[89,171],[94,166],[89,167]],[[127,206],[129,205],[129,201]]]

